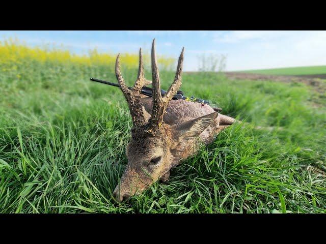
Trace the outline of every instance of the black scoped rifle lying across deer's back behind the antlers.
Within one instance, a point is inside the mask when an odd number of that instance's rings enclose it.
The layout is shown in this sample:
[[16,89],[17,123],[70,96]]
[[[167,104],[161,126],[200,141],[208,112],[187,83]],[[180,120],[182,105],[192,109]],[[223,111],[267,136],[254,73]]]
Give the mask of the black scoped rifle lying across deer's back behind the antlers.
[[[117,86],[120,87],[119,84],[116,83],[112,83],[112,82],[108,82],[108,81],[104,81],[104,80],[99,80],[99,79],[95,79],[95,78],[91,78],[91,81],[96,81],[96,82],[100,82],[103,84],[107,84],[107,85],[113,85],[113,86]],[[131,87],[128,86],[129,89],[131,89]],[[166,90],[161,89],[161,95],[164,96],[166,94]],[[147,87],[147,86],[143,86],[142,90],[141,90],[141,94],[146,95],[148,97],[152,97],[152,88]],[[182,92],[182,90],[178,90],[177,94],[174,95],[174,97],[172,98],[173,100],[186,100],[186,101],[192,101],[192,102],[197,102],[197,103],[204,103],[207,105],[210,105],[210,103],[204,99],[200,99],[200,98],[195,98],[194,96],[192,96],[191,98],[185,97],[183,96],[184,93]]]

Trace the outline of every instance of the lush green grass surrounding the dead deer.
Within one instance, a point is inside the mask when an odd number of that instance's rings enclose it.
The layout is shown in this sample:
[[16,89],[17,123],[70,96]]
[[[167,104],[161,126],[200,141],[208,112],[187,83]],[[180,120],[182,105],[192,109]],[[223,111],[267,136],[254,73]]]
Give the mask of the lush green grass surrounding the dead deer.
[[[131,119],[117,87],[89,81],[116,82],[113,64],[7,49],[0,48],[0,212],[326,212],[326,96],[311,87],[184,74],[186,95],[247,124],[226,129],[167,183],[119,204],[112,192]],[[137,60],[121,63],[131,85]],[[174,75],[161,70],[162,88]]]

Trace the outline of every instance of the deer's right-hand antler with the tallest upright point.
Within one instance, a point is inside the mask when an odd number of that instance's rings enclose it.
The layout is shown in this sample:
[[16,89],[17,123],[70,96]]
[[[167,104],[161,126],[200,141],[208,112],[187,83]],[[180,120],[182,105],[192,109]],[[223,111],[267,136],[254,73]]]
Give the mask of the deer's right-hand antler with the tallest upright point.
[[177,90],[180,88],[182,82],[182,62],[183,62],[183,52],[184,48],[182,48],[179,62],[177,66],[177,72],[174,78],[174,82],[168,89],[168,92],[164,97],[161,96],[160,92],[160,80],[159,80],[159,73],[156,61],[156,54],[155,54],[155,39],[153,40],[152,44],[152,76],[153,76],[153,109],[152,109],[152,116],[149,119],[149,129],[153,132],[158,130],[163,122],[164,113],[168,106],[169,101],[172,97],[176,94]]

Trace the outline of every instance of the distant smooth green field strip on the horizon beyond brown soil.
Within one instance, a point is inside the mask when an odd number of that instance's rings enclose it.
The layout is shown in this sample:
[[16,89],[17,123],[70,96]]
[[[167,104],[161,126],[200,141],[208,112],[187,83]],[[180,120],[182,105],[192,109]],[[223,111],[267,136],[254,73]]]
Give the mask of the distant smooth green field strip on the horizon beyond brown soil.
[[244,70],[239,72],[264,75],[320,75],[326,74],[326,66],[289,67],[267,70]]

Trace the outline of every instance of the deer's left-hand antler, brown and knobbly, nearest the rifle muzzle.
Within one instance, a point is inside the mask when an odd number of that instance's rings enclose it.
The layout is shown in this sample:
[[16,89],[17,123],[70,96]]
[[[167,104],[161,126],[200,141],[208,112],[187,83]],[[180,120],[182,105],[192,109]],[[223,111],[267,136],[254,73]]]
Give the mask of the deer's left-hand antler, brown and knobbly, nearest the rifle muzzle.
[[144,85],[150,84],[151,81],[146,80],[144,76],[142,49],[139,50],[138,76],[132,89],[129,89],[126,86],[126,83],[124,82],[123,77],[121,75],[119,56],[120,53],[117,56],[117,60],[116,60],[116,77],[118,79],[120,89],[122,90],[122,93],[125,96],[127,103],[129,105],[129,110],[134,126],[135,127],[143,126],[147,123],[150,115],[146,112],[145,109],[143,109],[143,105],[141,102],[141,90]]

